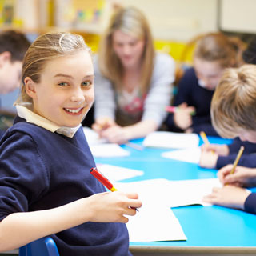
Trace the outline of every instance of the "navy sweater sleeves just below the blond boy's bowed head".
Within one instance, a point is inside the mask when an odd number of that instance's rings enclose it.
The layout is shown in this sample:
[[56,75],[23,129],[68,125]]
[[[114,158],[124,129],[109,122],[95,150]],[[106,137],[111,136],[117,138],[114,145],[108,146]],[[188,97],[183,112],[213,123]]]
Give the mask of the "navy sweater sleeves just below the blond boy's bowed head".
[[244,146],[245,150],[238,162],[238,166],[245,166],[250,168],[256,167],[256,143],[242,142],[239,138],[235,138],[232,144],[228,145],[230,154],[226,157],[218,157],[216,168],[220,169],[228,164],[233,164],[237,157],[240,146]]

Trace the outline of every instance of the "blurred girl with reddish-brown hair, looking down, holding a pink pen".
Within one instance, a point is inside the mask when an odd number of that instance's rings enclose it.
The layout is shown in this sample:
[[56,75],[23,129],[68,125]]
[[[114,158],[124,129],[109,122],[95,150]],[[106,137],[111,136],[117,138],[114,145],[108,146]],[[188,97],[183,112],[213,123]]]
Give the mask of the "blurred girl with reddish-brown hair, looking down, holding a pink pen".
[[243,43],[238,38],[221,33],[206,34],[198,40],[194,67],[186,70],[178,84],[174,100],[178,111],[166,119],[168,130],[197,134],[203,130],[208,135],[218,135],[210,121],[210,102],[223,70],[241,64],[242,50]]

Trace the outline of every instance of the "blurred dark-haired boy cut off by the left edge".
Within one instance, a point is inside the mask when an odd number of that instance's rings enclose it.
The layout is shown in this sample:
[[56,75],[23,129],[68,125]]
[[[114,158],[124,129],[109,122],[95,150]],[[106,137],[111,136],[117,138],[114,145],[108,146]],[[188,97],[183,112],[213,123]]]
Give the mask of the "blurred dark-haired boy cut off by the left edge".
[[13,113],[2,109],[1,99],[20,86],[22,60],[29,46],[30,42],[22,32],[0,32],[0,138],[14,117]]

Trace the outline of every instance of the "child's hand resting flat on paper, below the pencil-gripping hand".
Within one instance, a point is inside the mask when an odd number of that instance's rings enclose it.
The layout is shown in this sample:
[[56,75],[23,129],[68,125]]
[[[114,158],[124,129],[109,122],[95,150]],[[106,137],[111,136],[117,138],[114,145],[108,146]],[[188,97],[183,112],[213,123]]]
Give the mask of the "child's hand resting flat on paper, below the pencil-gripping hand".
[[244,210],[244,203],[250,191],[237,186],[226,185],[222,188],[214,187],[211,194],[206,195],[202,200],[218,206]]

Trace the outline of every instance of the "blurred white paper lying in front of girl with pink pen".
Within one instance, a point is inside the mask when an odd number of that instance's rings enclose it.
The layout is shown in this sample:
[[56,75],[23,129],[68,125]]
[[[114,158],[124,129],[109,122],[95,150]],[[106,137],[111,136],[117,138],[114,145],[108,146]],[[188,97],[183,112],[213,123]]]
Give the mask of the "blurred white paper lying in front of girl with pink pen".
[[198,134],[178,134],[168,131],[154,131],[143,141],[143,146],[169,149],[197,147],[198,144]]

